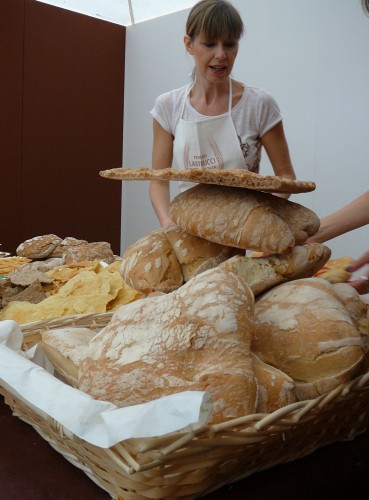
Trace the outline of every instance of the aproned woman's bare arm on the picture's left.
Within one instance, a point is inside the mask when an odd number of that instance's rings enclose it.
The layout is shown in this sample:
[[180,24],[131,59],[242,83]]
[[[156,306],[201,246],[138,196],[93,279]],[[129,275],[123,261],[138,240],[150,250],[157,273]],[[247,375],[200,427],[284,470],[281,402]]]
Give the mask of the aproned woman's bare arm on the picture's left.
[[[153,120],[152,168],[171,168],[173,158],[173,136]],[[174,222],[169,217],[170,190],[169,181],[150,181],[150,199],[160,226],[172,226]]]

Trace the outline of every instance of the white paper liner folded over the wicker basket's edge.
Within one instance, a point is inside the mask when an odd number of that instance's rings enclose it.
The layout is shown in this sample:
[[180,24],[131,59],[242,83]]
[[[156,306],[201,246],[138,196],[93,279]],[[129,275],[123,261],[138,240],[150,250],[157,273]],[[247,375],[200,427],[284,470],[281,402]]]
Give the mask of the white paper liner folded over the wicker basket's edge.
[[[149,403],[118,408],[64,384],[48,368],[40,345],[23,355],[23,333],[15,321],[0,322],[0,385],[43,418],[101,448],[129,438],[155,437],[205,424],[211,404],[207,392],[185,391]],[[35,356],[34,361],[27,357]]]

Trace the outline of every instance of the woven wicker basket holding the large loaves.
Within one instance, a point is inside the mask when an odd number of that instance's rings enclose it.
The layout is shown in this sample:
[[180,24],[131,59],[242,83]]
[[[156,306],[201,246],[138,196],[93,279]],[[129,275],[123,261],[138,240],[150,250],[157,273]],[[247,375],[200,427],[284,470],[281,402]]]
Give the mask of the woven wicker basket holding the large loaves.
[[[23,325],[25,346],[35,343],[45,329],[88,326],[98,331],[110,318],[111,313],[91,314]],[[367,373],[315,400],[271,414],[99,448],[52,418],[41,418],[11,391],[0,387],[0,392],[14,415],[112,497],[124,500],[199,498],[335,441],[351,440],[366,430],[369,419]]]

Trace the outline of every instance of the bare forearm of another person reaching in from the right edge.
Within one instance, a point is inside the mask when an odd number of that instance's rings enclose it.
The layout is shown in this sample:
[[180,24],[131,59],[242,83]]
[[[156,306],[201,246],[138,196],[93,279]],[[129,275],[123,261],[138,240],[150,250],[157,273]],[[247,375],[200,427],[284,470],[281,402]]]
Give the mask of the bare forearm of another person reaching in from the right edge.
[[369,224],[369,191],[336,212],[322,217],[318,232],[307,241],[324,243],[365,224]]

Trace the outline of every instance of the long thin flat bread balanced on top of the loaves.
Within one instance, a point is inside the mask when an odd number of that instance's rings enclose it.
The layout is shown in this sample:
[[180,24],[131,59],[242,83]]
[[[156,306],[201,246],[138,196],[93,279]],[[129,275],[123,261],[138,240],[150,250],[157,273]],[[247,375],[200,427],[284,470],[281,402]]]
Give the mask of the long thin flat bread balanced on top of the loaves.
[[151,169],[139,168],[112,168],[99,172],[101,177],[120,181],[187,181],[201,184],[217,184],[220,186],[234,186],[271,193],[307,193],[314,191],[315,183],[286,179],[273,175],[259,175],[249,170],[211,170],[191,169],[175,170],[173,168]]

